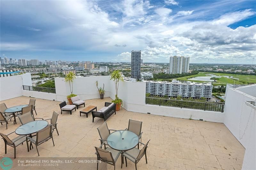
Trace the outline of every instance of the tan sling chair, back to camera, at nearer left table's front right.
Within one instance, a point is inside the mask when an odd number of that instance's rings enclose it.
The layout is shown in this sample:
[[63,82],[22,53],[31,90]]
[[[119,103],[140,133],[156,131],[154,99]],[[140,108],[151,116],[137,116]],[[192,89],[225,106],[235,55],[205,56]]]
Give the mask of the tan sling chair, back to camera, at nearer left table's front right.
[[[28,147],[28,140],[29,140],[30,142],[32,142],[33,144],[36,145],[36,151],[39,156],[37,146],[39,146],[40,144],[43,144],[44,142],[48,141],[51,138],[52,138],[53,146],[55,146],[53,137],[52,137],[52,125],[49,125],[49,126],[46,126],[44,129],[36,132],[36,139],[33,139],[33,138],[27,136],[27,138],[26,138],[27,147]],[[29,148],[28,148],[28,152],[29,152]]]

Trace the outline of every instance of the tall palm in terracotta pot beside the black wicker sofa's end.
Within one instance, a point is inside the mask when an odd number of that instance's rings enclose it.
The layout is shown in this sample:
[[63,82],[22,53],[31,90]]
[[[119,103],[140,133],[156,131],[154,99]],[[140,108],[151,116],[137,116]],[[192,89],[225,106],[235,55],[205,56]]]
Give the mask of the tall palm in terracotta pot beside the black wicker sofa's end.
[[119,99],[117,96],[118,93],[118,87],[119,87],[119,81],[124,81],[121,73],[119,70],[113,71],[113,73],[110,76],[110,80],[113,80],[115,82],[116,87],[116,99],[112,100],[113,103],[116,103],[116,111],[120,110],[121,106],[123,105],[123,100]]

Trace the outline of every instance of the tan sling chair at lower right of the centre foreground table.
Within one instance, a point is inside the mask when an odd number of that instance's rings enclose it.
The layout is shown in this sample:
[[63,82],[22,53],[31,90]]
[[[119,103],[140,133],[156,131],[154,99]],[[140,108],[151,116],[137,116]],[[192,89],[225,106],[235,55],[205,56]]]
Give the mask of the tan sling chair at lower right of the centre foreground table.
[[135,164],[135,169],[136,170],[137,170],[137,163],[140,161],[140,159],[144,155],[145,155],[146,164],[147,164],[148,163],[148,160],[147,160],[147,148],[148,148],[149,141],[146,144],[143,144],[143,143],[140,142],[140,144],[144,145],[141,150],[139,150],[137,148],[133,148],[133,149],[125,151],[125,152],[123,151],[123,153],[121,155],[121,159],[122,159],[121,168],[123,167],[124,158],[125,158],[125,166],[127,167],[127,159],[129,159],[129,160],[131,160]]

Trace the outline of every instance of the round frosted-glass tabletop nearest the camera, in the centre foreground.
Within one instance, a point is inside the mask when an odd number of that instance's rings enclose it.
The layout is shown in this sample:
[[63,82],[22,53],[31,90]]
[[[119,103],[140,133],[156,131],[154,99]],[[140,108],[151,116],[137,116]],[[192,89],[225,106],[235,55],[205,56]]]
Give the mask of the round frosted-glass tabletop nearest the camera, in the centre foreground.
[[139,137],[129,130],[117,130],[108,136],[107,143],[117,151],[128,151],[138,145]]

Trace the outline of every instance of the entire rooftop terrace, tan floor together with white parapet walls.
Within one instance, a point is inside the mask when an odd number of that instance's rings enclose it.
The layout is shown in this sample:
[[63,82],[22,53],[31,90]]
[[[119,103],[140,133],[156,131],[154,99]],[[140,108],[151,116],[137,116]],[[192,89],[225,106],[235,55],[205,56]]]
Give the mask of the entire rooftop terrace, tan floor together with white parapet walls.
[[[72,115],[65,112],[60,114],[59,103],[65,101],[70,93],[69,85],[63,78],[55,78],[56,93],[23,90],[23,85],[31,86],[29,78],[29,73],[0,78],[0,100],[7,107],[12,107],[28,104],[30,97],[33,97],[36,99],[36,117],[51,118],[53,111],[59,114],[60,136],[53,133],[55,146],[46,142],[38,147],[40,157],[96,158],[94,146],[100,145],[97,127],[103,120],[95,118],[92,122],[91,114],[88,118],[84,115],[80,117],[79,111],[84,107],[79,107]],[[100,86],[105,84],[104,100],[99,99],[96,80]],[[142,142],[151,141],[147,151],[148,164],[141,160],[138,169],[256,169],[256,116],[254,107],[248,105],[248,101],[256,101],[255,88],[256,85],[229,88],[224,112],[221,113],[146,104],[145,83],[120,82],[118,96],[123,99],[123,109],[111,115],[107,123],[109,129],[125,129],[129,119],[143,122]],[[115,87],[108,76],[76,78],[74,93],[85,100],[86,106],[101,108],[105,101],[114,98]],[[0,125],[1,133],[12,132],[19,125],[18,119],[15,125],[9,123],[7,130],[5,124]],[[0,140],[0,144],[1,157],[13,157],[13,148],[7,147],[7,154],[4,154],[3,140]],[[17,157],[27,159],[38,156],[35,149],[27,152],[26,146],[20,145]],[[17,160],[13,159],[14,162]],[[120,164],[119,158],[117,169],[120,169]],[[81,167],[81,164],[74,165],[74,169]],[[90,164],[87,169],[95,167],[96,163]],[[128,161],[128,166],[123,166],[123,169],[134,169],[134,164]]]

